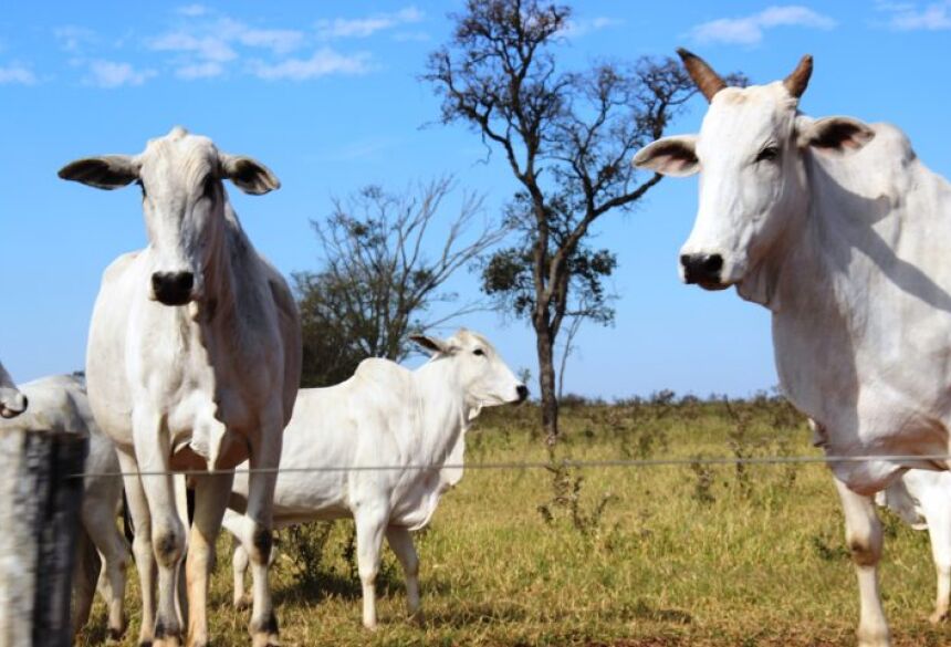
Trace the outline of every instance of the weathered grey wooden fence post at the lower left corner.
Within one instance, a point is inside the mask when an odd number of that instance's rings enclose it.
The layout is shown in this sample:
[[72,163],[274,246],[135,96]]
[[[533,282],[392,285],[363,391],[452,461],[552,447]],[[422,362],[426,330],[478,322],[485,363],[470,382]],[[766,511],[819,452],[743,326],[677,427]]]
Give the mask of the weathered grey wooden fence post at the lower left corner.
[[0,647],[69,647],[88,438],[17,422],[0,425]]

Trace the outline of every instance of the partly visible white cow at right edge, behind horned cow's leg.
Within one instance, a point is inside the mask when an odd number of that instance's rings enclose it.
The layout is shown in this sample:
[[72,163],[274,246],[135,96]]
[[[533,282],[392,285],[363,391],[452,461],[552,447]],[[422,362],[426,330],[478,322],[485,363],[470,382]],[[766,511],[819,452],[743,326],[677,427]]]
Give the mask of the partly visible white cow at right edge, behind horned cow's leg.
[[951,472],[908,470],[878,492],[875,500],[887,505],[915,530],[928,530],[931,556],[938,574],[934,613],[930,620],[948,619],[951,602]]

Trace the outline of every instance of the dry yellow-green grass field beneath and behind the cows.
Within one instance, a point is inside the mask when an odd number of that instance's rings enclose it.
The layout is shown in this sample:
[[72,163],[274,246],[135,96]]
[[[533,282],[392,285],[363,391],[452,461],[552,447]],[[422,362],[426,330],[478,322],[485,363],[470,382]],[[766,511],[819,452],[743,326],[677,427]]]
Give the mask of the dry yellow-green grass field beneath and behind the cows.
[[[547,460],[531,407],[490,411],[467,461]],[[563,458],[815,455],[805,424],[772,398],[652,401],[563,409]],[[931,627],[927,533],[884,514],[881,568],[896,645],[945,645]],[[347,555],[352,523],[282,533],[273,589],[283,645],[854,645],[858,595],[827,470],[683,466],[470,470],[417,534],[426,620],[405,619],[388,551],[377,632],[360,626]],[[323,550],[302,550],[326,534]],[[216,645],[249,644],[231,608],[230,540],[210,599]],[[302,575],[303,573],[303,575]],[[135,645],[138,594],[126,595]],[[97,601],[79,645],[105,636]]]

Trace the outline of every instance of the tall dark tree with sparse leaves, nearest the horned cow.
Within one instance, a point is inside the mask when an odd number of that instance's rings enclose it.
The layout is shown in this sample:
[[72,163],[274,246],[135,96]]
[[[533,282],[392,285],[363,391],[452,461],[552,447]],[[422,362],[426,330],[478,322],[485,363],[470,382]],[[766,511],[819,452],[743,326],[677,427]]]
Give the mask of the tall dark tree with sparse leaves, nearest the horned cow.
[[694,93],[672,59],[558,70],[553,52],[569,15],[539,0],[468,0],[424,75],[442,97],[441,121],[467,124],[500,149],[520,184],[508,213],[518,243],[485,264],[483,289],[534,328],[550,442],[558,436],[554,347],[563,323],[614,315],[602,282],[616,260],[587,244],[591,228],[660,181],[636,174],[630,158]]

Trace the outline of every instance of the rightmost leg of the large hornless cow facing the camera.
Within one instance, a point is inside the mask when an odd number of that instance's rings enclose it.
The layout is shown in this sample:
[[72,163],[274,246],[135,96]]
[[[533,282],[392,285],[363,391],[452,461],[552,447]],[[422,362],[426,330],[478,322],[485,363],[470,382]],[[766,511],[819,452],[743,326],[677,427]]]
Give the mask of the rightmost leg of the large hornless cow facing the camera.
[[[275,468],[281,460],[283,428],[280,415],[262,417],[272,420],[262,424],[261,436],[252,439],[248,479],[248,509],[240,524],[238,538],[251,561],[253,602],[251,606],[251,644],[253,647],[276,647],[278,617],[271,601],[268,580],[271,546],[273,543],[274,487],[278,482]],[[262,470],[262,471],[258,471]]]

